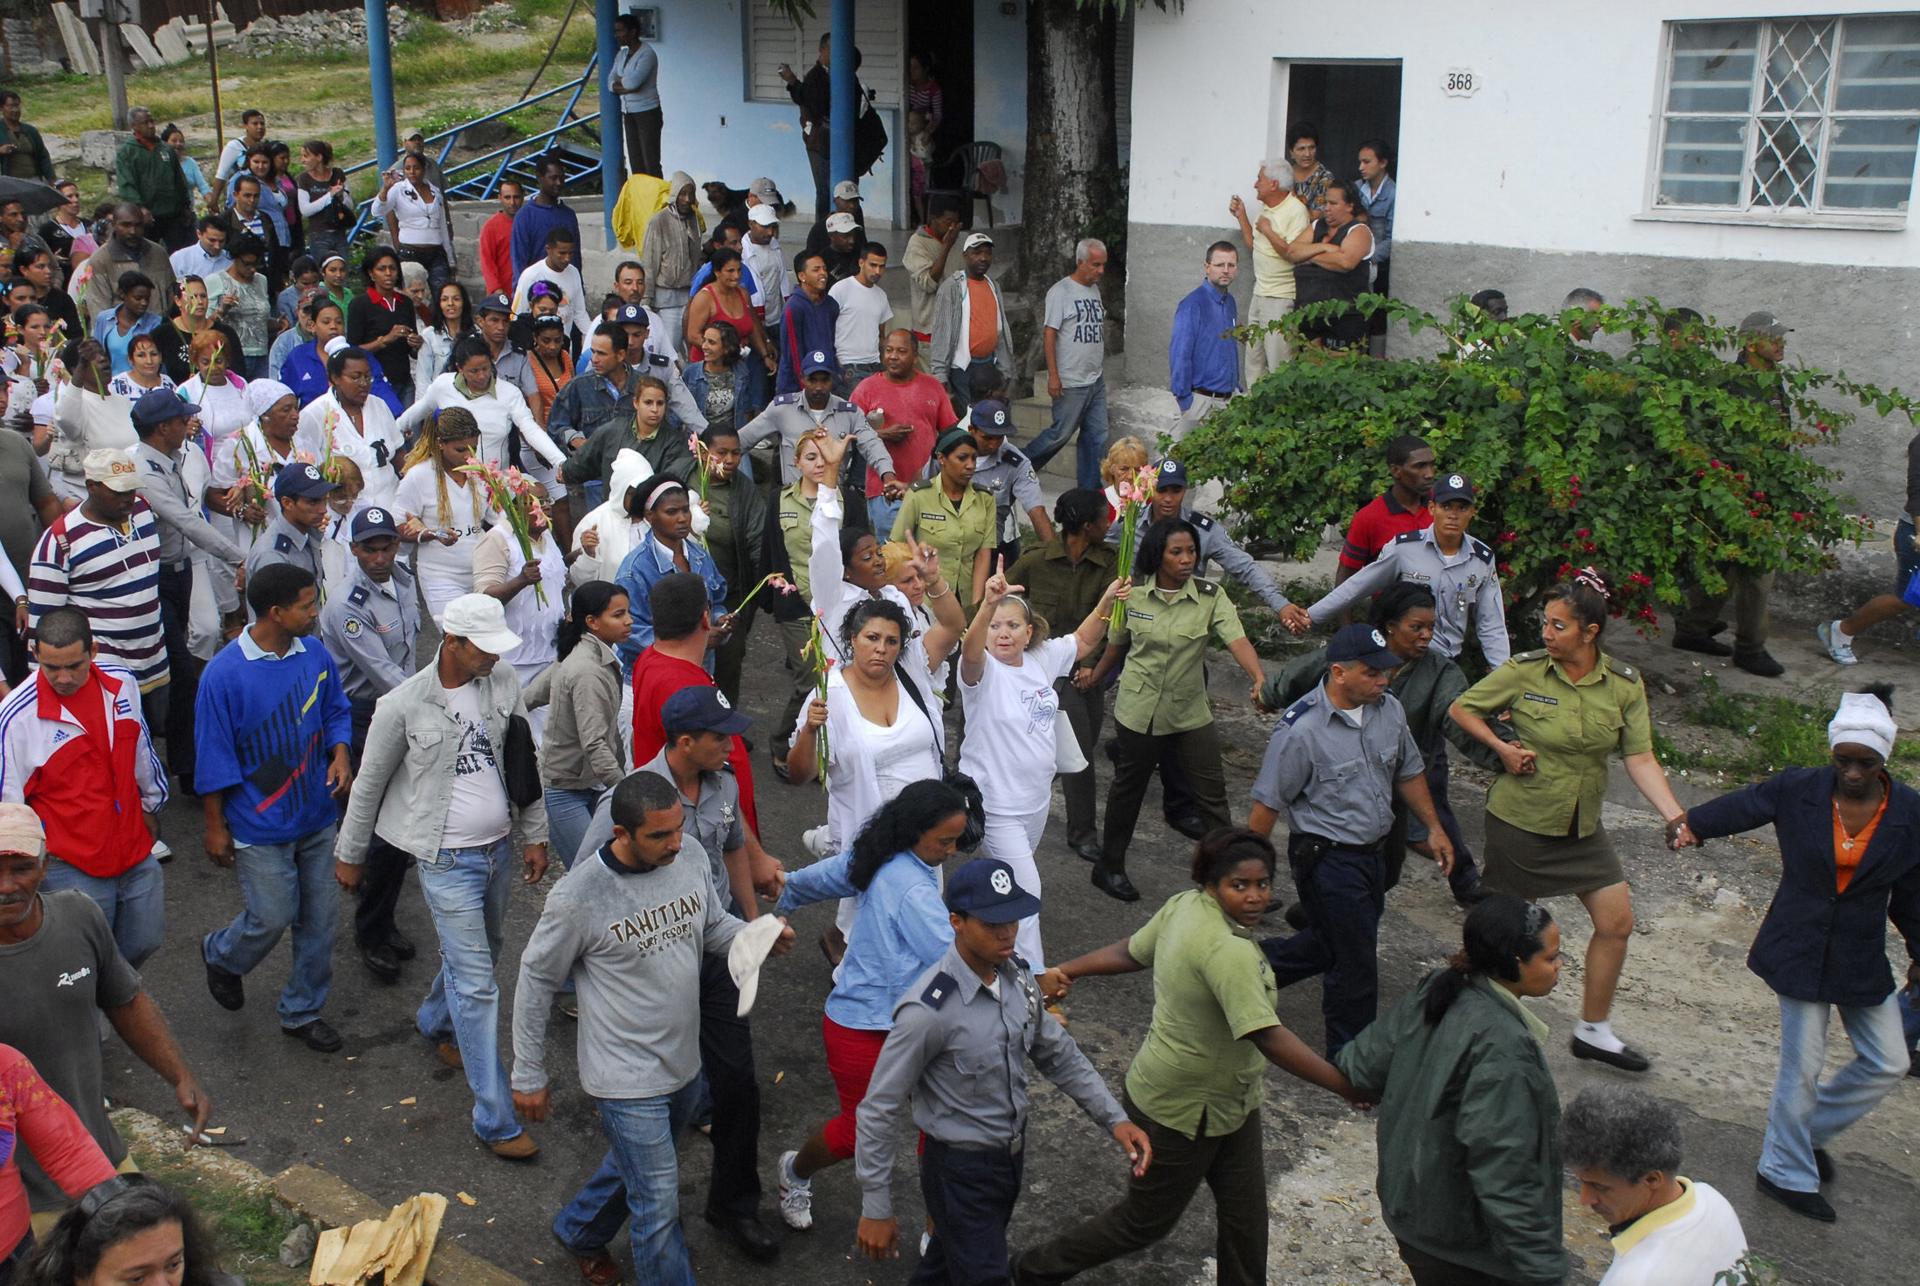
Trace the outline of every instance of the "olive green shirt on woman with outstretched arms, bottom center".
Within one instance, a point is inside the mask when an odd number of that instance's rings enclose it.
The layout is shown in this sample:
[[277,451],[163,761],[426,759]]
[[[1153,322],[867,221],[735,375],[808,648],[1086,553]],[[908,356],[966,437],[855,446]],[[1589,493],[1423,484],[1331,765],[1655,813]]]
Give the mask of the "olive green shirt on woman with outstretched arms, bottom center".
[[1154,971],[1154,1017],[1127,1069],[1127,1098],[1190,1138],[1219,1138],[1260,1109],[1267,1058],[1242,1036],[1279,1027],[1281,988],[1248,929],[1202,889],[1167,898],[1127,939]]

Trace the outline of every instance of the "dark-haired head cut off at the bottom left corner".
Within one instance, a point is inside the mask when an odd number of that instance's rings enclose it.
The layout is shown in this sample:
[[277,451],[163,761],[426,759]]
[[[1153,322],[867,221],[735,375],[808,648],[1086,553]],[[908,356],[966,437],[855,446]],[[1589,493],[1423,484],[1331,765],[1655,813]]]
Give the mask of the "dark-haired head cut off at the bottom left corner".
[[219,1271],[213,1242],[186,1198],[146,1175],[115,1175],[54,1225],[21,1286],[238,1286]]

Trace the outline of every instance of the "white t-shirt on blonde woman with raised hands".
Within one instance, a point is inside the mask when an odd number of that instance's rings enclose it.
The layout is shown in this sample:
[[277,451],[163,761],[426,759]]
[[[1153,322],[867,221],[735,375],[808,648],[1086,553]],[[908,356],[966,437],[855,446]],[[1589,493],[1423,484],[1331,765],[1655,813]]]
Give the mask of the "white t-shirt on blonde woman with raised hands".
[[1054,791],[1054,679],[1079,660],[1079,641],[1048,639],[1008,666],[987,653],[979,683],[960,679],[966,741],[960,772],[979,783],[981,798],[1000,816],[1046,808]]

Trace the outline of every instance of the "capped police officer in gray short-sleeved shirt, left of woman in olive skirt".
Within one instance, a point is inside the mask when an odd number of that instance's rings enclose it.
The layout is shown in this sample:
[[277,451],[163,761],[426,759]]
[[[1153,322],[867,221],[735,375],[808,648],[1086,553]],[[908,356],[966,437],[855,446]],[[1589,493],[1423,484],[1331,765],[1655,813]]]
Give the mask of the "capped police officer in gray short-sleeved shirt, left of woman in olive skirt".
[[1271,835],[1286,816],[1286,864],[1308,908],[1308,927],[1260,948],[1281,987],[1325,973],[1327,1054],[1373,1021],[1379,1000],[1375,944],[1386,910],[1386,833],[1394,797],[1428,831],[1446,873],[1453,845],[1434,814],[1405,710],[1386,691],[1400,655],[1373,626],[1344,626],[1327,645],[1327,679],[1281,716],[1254,777],[1248,827]]

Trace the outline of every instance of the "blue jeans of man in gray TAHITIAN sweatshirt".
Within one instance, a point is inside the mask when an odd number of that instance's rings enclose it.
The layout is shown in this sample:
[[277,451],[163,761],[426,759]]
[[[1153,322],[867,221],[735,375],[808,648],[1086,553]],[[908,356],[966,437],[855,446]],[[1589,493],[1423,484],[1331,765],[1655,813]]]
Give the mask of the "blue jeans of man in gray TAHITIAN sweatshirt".
[[693,1286],[680,1230],[680,1152],[701,1094],[699,1077],[659,1098],[599,1100],[607,1159],[553,1217],[553,1236],[576,1255],[605,1250],[626,1221],[637,1286]]

